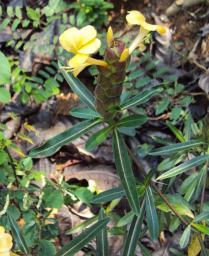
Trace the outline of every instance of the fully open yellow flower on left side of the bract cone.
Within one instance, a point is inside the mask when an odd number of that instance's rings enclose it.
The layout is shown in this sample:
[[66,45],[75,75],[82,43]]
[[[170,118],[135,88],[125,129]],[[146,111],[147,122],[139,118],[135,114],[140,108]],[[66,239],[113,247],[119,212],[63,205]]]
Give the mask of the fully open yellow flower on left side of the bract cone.
[[59,37],[61,46],[71,52],[75,56],[69,60],[69,67],[62,67],[69,69],[67,72],[73,71],[76,77],[84,68],[89,65],[102,65],[108,67],[106,62],[90,58],[89,55],[95,53],[101,41],[96,37],[96,29],[91,26],[85,26],[78,30],[75,27],[65,30]]

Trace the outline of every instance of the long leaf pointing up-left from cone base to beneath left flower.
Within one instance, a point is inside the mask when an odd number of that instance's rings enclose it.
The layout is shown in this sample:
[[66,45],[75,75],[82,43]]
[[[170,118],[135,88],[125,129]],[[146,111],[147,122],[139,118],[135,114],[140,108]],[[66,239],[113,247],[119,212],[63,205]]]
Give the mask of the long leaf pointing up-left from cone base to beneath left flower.
[[94,108],[94,101],[95,97],[93,94],[85,87],[85,85],[82,84],[82,82],[77,78],[74,77],[72,72],[67,72],[64,68],[61,68],[64,66],[63,63],[58,61],[58,66],[66,79],[67,83],[70,85],[70,88],[75,92],[75,94],[78,96],[78,98],[90,109],[95,111]]

